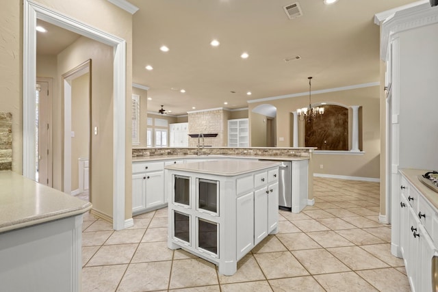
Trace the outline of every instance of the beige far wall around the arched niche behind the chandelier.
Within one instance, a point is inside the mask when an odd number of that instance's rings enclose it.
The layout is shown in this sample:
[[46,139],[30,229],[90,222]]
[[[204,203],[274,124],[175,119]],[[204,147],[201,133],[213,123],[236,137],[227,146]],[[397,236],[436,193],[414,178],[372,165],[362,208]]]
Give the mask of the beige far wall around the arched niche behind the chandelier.
[[[284,98],[270,101],[277,108],[276,138],[277,146],[292,146],[292,111],[305,106],[308,96]],[[380,87],[372,86],[355,90],[312,94],[313,103],[341,103],[342,105],[361,105],[362,111],[362,143],[363,155],[313,155],[313,172],[318,174],[333,174],[339,176],[360,176],[367,178],[380,177]],[[261,103],[251,103],[250,111]],[[250,112],[250,131],[255,133],[254,113]],[[257,120],[256,127],[260,127]],[[284,141],[279,141],[283,137]],[[253,138],[251,138],[253,141]],[[251,145],[255,146],[255,145]],[[323,165],[323,168],[320,168]]]

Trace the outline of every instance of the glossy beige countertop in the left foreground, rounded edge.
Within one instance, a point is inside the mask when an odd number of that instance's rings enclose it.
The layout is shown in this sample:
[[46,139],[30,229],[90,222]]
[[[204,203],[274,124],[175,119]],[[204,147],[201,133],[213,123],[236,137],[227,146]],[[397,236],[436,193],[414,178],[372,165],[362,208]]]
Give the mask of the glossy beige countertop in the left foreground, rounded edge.
[[0,233],[79,215],[92,204],[11,171],[0,171]]

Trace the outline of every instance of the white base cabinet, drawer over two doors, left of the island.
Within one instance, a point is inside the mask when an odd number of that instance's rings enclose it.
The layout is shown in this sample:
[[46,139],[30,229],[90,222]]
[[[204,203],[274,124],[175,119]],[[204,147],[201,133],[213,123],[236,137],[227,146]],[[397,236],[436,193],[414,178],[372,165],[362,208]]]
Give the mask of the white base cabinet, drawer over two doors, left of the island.
[[144,213],[165,206],[164,162],[133,162],[132,213]]

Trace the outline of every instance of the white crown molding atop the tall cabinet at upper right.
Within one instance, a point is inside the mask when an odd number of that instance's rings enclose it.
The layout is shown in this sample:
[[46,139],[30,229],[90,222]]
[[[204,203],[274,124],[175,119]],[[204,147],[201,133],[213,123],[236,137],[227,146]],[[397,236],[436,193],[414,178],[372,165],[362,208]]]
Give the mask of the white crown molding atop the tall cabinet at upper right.
[[419,1],[411,8],[389,16],[381,25],[381,59],[386,61],[389,42],[396,34],[425,25],[438,23],[438,7],[430,7],[429,1]]

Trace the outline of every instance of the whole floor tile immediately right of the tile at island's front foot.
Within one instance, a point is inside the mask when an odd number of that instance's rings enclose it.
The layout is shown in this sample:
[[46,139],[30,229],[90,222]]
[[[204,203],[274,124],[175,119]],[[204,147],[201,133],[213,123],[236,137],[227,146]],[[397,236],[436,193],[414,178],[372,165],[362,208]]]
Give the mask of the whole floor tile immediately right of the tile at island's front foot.
[[254,256],[268,279],[309,275],[290,252],[269,252]]

